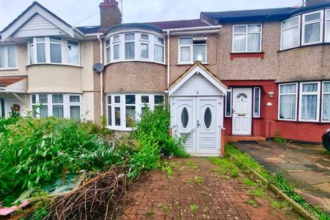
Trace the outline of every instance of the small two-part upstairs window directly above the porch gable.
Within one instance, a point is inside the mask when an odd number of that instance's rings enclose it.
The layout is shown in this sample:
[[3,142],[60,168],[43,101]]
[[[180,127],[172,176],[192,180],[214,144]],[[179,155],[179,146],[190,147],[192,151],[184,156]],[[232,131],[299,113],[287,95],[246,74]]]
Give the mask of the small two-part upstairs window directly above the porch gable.
[[205,37],[180,37],[179,63],[206,63],[206,40]]

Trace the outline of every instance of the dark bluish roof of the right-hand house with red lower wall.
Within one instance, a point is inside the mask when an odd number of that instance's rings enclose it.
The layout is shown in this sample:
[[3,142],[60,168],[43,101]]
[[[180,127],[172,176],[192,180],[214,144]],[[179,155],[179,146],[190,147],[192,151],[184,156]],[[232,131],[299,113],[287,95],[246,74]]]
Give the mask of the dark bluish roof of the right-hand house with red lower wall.
[[218,21],[236,21],[245,19],[283,19],[297,8],[267,8],[259,10],[239,10],[227,12],[201,12],[201,16],[217,19]]

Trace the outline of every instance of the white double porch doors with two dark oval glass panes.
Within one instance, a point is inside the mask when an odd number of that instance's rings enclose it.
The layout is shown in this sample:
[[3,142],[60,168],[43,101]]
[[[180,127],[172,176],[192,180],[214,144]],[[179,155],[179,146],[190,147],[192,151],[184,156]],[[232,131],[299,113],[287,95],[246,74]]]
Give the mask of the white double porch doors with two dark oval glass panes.
[[223,126],[223,98],[174,97],[173,133],[189,135],[186,151],[195,155],[219,155],[220,129]]

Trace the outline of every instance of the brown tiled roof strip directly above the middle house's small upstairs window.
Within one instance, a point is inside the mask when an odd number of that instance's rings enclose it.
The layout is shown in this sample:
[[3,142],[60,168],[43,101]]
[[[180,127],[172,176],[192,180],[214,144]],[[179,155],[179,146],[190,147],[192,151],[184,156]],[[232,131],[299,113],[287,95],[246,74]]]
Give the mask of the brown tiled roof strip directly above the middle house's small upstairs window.
[[177,20],[177,21],[157,21],[157,22],[148,22],[146,24],[155,25],[162,29],[172,29],[172,28],[195,28],[195,27],[205,27],[210,26],[205,21],[201,19],[192,19],[192,20]]

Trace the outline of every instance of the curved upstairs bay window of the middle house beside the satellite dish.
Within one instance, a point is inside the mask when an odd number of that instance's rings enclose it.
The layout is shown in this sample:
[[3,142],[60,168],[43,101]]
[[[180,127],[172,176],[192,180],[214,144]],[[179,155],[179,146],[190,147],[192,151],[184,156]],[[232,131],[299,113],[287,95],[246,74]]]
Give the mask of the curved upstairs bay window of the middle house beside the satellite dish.
[[107,63],[118,61],[148,61],[164,63],[164,39],[155,34],[124,33],[105,41]]

